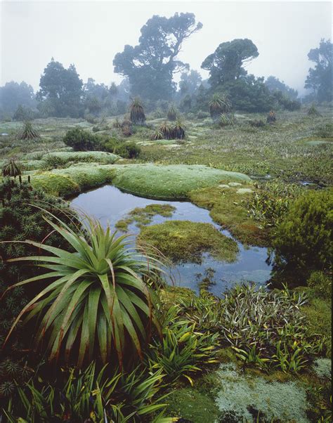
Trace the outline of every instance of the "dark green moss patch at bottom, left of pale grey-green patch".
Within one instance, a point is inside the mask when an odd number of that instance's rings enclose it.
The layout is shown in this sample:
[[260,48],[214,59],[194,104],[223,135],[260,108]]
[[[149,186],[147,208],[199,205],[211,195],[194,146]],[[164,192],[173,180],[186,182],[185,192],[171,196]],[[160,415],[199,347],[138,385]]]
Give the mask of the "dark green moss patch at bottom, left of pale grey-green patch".
[[166,415],[186,419],[192,423],[211,423],[218,419],[218,408],[209,396],[195,389],[183,388],[167,398]]

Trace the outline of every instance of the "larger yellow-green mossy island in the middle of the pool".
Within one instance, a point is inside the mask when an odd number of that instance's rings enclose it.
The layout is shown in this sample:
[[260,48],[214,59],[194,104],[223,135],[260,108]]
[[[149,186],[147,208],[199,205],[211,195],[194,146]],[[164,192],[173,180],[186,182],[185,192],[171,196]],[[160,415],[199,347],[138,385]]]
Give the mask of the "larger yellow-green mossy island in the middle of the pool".
[[216,259],[235,261],[237,243],[210,223],[166,221],[141,229],[138,243],[152,245],[174,262],[201,262],[203,252]]

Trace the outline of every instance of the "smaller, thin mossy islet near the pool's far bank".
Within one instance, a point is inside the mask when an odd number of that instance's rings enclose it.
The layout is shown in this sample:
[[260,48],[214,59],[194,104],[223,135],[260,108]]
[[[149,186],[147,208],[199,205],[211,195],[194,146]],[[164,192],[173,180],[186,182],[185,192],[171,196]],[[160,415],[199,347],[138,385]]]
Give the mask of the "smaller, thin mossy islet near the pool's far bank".
[[154,216],[171,217],[176,207],[171,204],[148,204],[146,207],[136,207],[129,214],[128,217],[116,223],[116,228],[126,232],[131,223],[136,222],[136,226],[148,225]]

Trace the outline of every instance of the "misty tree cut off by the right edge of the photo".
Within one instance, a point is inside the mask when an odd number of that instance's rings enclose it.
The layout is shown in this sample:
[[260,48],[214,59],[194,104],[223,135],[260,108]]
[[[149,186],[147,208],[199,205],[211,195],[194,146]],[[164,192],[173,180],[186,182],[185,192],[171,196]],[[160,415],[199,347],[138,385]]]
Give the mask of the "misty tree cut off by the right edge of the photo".
[[304,88],[311,89],[320,103],[332,101],[331,41],[321,39],[318,48],[311,48],[308,58],[315,63],[315,67],[308,70]]

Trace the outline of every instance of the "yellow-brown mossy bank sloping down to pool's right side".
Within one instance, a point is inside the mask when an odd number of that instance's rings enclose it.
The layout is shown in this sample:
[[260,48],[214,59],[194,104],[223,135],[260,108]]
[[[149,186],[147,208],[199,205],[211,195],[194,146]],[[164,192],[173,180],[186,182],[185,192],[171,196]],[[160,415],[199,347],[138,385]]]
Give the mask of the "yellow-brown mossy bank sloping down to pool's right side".
[[[244,189],[251,188],[247,186]],[[209,209],[211,218],[223,228],[228,228],[244,244],[268,245],[268,229],[249,218],[247,202],[252,193],[244,189],[237,193],[240,188],[229,183],[228,186],[193,190],[189,197],[197,206]]]

